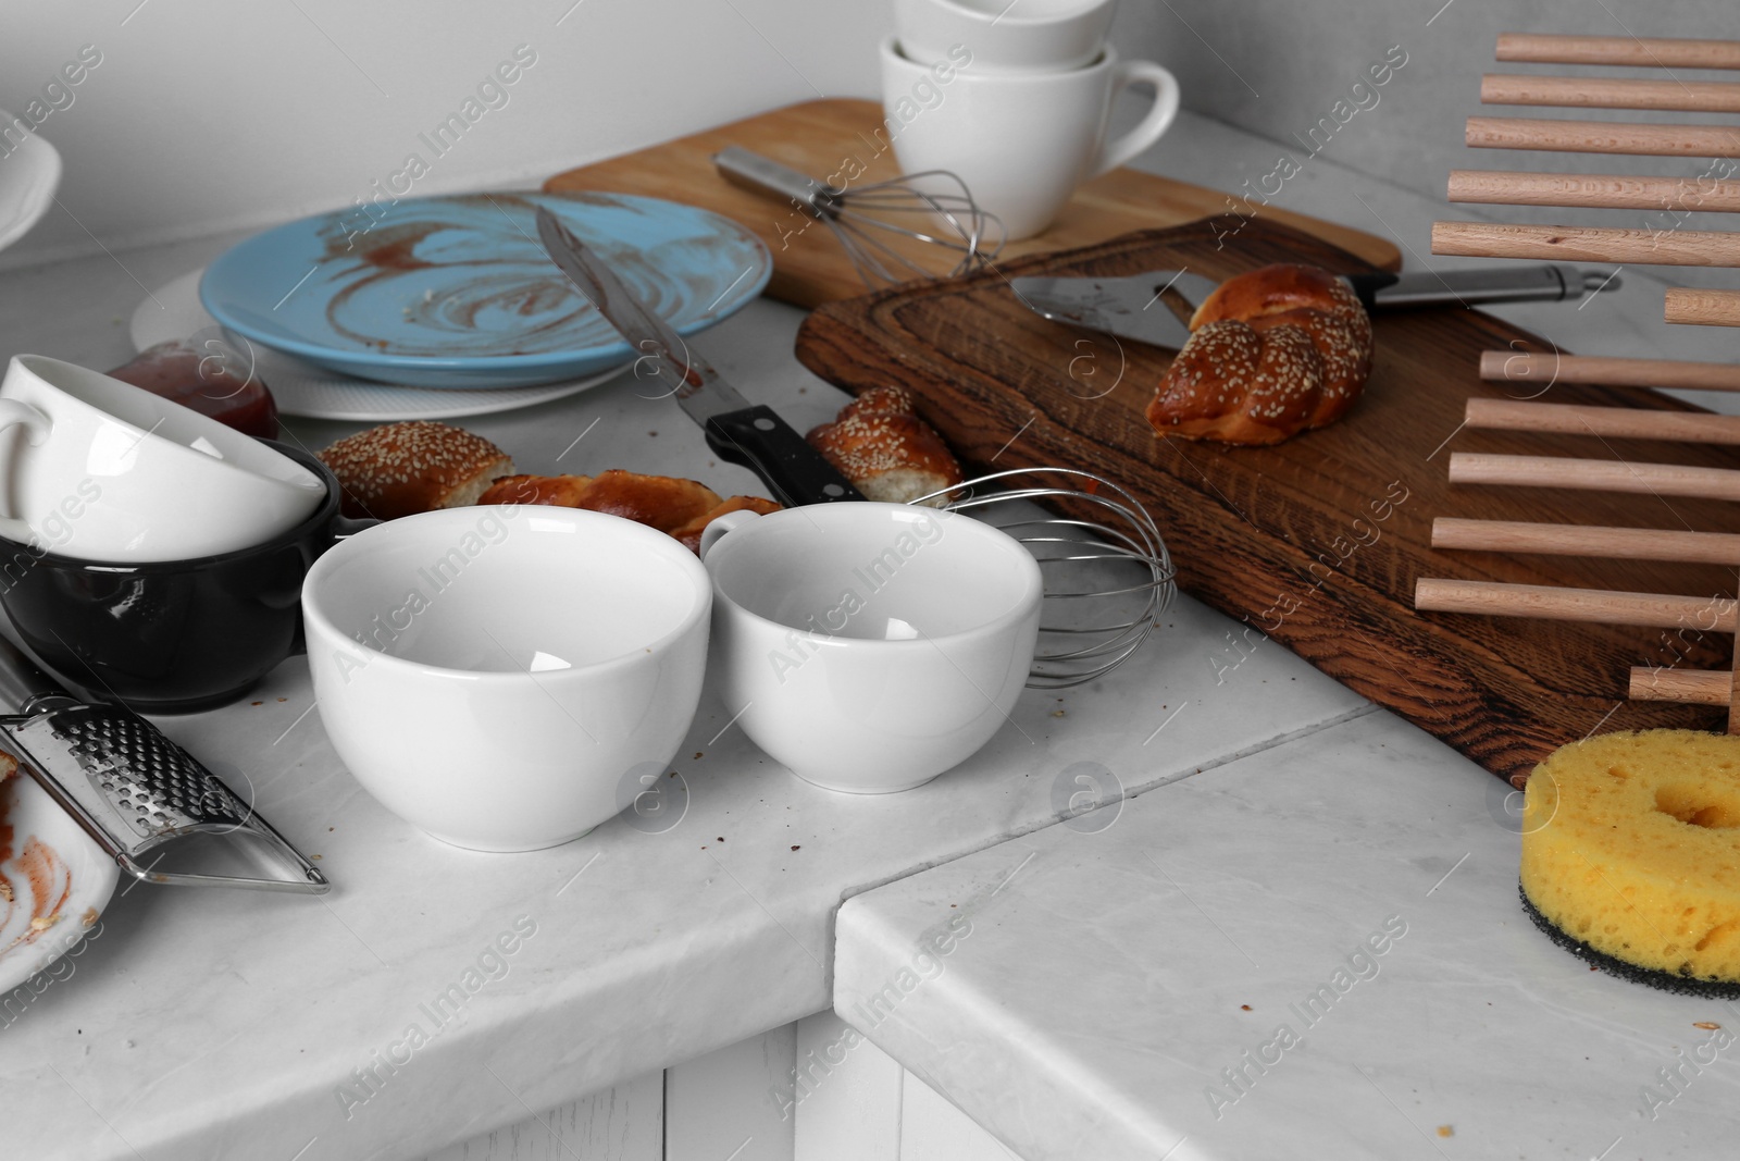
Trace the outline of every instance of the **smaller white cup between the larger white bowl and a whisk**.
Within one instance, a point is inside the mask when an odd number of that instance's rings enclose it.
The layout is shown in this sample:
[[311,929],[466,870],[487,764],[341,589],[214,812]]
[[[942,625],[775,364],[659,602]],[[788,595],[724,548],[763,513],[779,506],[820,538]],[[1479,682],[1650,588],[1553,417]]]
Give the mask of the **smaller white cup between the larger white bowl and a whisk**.
[[729,513],[703,538],[713,672],[738,724],[797,776],[889,794],[1009,721],[1044,590],[1014,538],[891,503]]

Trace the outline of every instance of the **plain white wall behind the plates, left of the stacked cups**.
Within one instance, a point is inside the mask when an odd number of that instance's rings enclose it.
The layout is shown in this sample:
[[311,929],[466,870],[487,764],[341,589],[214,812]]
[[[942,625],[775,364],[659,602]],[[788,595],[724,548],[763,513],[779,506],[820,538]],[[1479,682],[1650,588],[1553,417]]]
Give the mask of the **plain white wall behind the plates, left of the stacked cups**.
[[[343,207],[412,151],[416,193],[531,186],[868,96],[889,21],[884,0],[0,0],[0,108],[23,113],[82,45],[103,56],[38,131],[66,160],[64,209],[0,266],[94,252],[85,230],[120,251]],[[517,45],[536,64],[435,158],[418,134]]]

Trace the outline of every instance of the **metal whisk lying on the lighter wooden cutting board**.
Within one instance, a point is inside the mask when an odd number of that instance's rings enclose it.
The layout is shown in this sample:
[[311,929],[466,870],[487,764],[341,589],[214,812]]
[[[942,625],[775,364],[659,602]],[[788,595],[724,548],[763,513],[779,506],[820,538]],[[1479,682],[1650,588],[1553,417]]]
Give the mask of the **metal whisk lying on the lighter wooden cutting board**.
[[[884,238],[877,232],[915,238],[960,254],[947,275],[971,273],[1002,251],[1002,223],[995,214],[980,209],[966,183],[947,169],[905,174],[867,186],[839,188],[741,146],[715,153],[713,165],[731,185],[790,202],[802,214],[825,225],[839,238],[840,249],[853,261],[858,277],[872,291],[910,279],[938,277],[936,272],[900,252],[896,245],[889,244],[891,238]],[[927,190],[926,185],[947,185],[957,188],[959,193],[938,193]],[[915,214],[917,221],[936,223],[929,228],[940,233],[903,225],[914,221]]]

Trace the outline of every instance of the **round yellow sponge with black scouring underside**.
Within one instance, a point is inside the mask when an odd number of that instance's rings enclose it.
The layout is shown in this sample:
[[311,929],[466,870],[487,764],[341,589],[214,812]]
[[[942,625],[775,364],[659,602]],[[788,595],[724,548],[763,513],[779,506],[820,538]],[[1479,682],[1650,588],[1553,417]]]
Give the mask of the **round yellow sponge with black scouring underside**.
[[1528,780],[1521,881],[1535,924],[1599,968],[1740,997],[1740,736],[1561,747]]

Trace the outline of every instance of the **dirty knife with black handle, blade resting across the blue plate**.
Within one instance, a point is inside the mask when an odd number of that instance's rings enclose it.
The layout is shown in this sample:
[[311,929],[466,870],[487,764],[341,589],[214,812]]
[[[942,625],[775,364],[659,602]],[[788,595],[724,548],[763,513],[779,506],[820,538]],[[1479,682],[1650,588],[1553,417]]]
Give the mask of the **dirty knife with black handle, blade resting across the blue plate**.
[[706,444],[722,460],[743,465],[786,507],[863,500],[844,475],[773,407],[750,404],[659,319],[616,272],[538,209],[538,237],[557,266],[592,299],[612,327],[640,352],[677,404],[701,425]]

